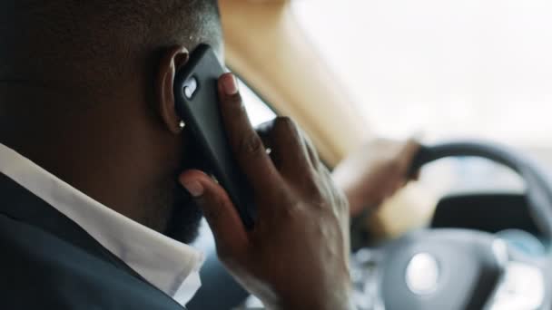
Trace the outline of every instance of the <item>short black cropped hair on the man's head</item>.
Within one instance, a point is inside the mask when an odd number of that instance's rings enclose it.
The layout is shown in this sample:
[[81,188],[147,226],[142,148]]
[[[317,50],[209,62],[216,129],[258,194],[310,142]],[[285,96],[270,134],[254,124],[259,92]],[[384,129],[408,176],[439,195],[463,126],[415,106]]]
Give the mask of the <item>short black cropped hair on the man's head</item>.
[[155,49],[221,44],[221,32],[216,0],[0,0],[0,81],[102,87]]

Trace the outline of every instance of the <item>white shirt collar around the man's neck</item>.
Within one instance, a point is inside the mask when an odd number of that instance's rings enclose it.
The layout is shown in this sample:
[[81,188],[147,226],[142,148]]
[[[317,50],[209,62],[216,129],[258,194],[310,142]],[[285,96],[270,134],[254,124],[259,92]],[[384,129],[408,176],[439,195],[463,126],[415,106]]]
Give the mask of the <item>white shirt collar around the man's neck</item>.
[[147,281],[185,305],[203,254],[107,208],[0,143],[0,172],[73,220]]

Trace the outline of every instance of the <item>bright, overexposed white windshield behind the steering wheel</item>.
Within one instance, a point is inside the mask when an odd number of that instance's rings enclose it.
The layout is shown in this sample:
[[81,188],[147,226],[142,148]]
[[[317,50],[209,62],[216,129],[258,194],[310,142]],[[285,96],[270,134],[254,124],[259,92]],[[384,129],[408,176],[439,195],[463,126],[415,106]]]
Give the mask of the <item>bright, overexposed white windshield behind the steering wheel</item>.
[[292,3],[378,133],[552,150],[552,2]]

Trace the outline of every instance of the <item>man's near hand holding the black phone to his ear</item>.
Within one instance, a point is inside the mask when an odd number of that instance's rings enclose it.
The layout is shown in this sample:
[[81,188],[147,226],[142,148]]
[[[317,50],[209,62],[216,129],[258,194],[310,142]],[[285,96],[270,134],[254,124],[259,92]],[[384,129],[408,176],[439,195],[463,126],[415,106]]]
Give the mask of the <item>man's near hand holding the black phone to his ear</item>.
[[219,80],[219,96],[231,148],[254,191],[254,228],[243,226],[206,174],[188,170],[180,180],[203,209],[222,262],[269,308],[350,309],[347,199],[293,121],[277,118],[255,131],[230,73]]

